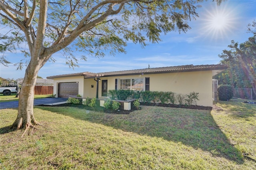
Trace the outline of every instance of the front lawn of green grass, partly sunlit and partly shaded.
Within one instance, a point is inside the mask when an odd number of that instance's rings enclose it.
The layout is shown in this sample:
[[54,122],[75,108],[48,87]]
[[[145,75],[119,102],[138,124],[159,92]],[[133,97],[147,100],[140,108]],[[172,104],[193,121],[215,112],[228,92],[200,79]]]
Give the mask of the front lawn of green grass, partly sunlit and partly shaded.
[[0,116],[0,169],[255,169],[256,105],[217,110],[142,106],[129,115],[85,107],[35,107],[44,127],[8,132],[16,109]]

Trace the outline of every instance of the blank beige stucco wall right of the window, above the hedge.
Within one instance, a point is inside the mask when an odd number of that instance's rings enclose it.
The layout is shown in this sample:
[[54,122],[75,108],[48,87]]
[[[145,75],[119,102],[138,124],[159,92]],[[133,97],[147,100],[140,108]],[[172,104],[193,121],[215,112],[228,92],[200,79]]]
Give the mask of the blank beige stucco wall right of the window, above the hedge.
[[184,95],[194,91],[199,93],[197,105],[212,107],[212,71],[155,74],[150,76],[150,91]]

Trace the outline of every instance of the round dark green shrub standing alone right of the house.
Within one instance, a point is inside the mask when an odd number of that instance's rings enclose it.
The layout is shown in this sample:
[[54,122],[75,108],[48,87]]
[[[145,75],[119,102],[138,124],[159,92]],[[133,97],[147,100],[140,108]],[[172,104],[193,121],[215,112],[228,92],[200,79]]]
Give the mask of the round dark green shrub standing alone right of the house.
[[233,97],[233,87],[231,85],[220,85],[217,89],[219,100],[228,101]]

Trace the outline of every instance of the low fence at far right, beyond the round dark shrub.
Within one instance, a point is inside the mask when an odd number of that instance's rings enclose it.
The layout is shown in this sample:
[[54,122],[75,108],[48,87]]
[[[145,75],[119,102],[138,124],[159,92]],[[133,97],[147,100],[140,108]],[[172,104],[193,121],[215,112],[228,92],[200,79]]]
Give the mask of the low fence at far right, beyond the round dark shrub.
[[233,97],[255,100],[256,99],[255,91],[256,89],[234,89]]

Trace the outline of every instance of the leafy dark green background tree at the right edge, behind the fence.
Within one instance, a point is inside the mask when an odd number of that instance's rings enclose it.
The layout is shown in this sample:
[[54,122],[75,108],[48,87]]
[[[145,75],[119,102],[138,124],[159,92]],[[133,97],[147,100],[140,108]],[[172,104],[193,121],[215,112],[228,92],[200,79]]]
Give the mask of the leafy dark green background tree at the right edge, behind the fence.
[[[244,43],[231,41],[229,50],[223,50],[219,55],[220,63],[228,64],[228,69],[214,79],[220,84],[229,84],[235,88],[256,89],[256,21],[248,25],[248,31],[253,36]],[[254,91],[256,93],[256,91]]]

